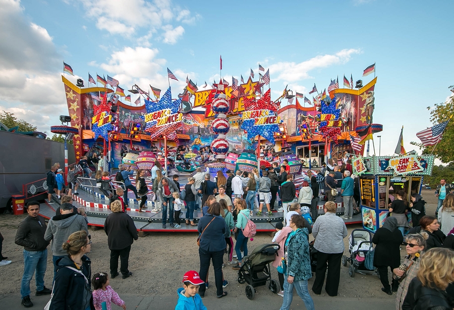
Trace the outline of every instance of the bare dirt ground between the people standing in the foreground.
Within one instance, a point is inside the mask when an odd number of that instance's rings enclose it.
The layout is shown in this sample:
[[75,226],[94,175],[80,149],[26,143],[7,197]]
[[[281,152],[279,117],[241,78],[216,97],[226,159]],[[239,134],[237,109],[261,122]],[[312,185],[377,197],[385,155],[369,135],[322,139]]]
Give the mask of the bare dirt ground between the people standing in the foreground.
[[[428,214],[433,214],[435,209],[433,203],[436,203],[436,198],[433,196],[433,191],[424,191],[422,193],[424,199],[431,206],[427,206]],[[435,205],[436,206],[436,205]],[[433,209],[432,211],[429,211]],[[0,267],[0,297],[8,295],[18,295],[20,292],[20,284],[23,273],[23,248],[14,243],[17,226],[20,221],[25,218],[23,216],[0,215],[0,232],[5,237],[3,243],[3,255],[8,256],[13,263]],[[360,224],[347,226],[349,235],[353,229],[361,228]],[[92,252],[88,254],[92,260],[92,272],[109,272],[109,249],[107,248],[107,236],[104,230],[90,229],[92,244]],[[196,233],[156,233],[146,237],[139,238],[135,241],[131,248],[129,269],[133,276],[122,280],[121,277],[112,279],[110,285],[119,294],[150,296],[150,295],[175,295],[176,290],[181,287],[181,279],[183,274],[188,270],[199,270],[198,247],[196,244]],[[311,239],[312,236],[310,236]],[[270,243],[271,235],[268,233],[258,233],[254,237],[254,241],[248,242],[249,251],[255,246]],[[348,237],[345,238],[346,251],[348,255]],[[401,252],[405,255],[405,248]],[[226,255],[224,262],[226,263]],[[52,281],[52,253],[50,246],[48,247],[47,272],[45,275],[45,284],[51,287]],[[230,267],[223,269],[224,277],[229,281],[229,286],[225,288],[229,295],[236,297],[244,295],[245,284],[237,282],[237,272]],[[277,280],[277,272],[272,268],[272,276]],[[390,275],[389,275],[390,276]],[[309,280],[309,287],[312,286],[313,279]],[[210,287],[207,290],[207,295],[214,295],[214,274],[212,268],[209,275]],[[341,283],[339,285],[338,298],[353,297],[353,298],[395,298],[395,295],[388,296],[381,291],[381,283],[377,276],[355,274],[351,278],[348,274],[348,267],[341,269]],[[35,283],[31,283],[32,292],[35,290]],[[324,290],[322,291],[324,293]],[[323,295],[322,293],[322,295]],[[272,294],[267,287],[262,286],[257,288],[259,295]],[[311,292],[312,294],[312,292]]]

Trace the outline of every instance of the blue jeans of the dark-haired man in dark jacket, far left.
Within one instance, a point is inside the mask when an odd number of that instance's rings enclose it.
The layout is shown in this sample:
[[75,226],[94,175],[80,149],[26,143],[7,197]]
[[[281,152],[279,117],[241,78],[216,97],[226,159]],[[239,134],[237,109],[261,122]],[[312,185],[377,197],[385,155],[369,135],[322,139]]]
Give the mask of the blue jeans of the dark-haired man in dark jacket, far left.
[[44,274],[47,268],[47,249],[43,251],[24,250],[24,275],[21,283],[21,297],[30,296],[30,281],[36,271],[36,290],[44,289]]

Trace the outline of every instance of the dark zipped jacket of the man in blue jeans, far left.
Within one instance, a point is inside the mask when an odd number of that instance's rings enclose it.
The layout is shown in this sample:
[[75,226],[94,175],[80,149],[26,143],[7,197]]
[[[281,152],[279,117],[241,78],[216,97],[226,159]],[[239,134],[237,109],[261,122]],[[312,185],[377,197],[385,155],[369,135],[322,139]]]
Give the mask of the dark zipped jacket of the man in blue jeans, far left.
[[14,242],[23,246],[26,251],[43,251],[50,241],[44,240],[46,233],[46,222],[38,215],[36,218],[27,216],[19,224]]

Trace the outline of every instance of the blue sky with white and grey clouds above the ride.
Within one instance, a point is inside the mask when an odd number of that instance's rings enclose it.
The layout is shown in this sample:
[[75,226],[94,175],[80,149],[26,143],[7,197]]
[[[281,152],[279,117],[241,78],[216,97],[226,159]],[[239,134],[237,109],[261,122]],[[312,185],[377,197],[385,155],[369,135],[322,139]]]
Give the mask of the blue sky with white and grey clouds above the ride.
[[163,91],[168,67],[179,79],[171,81],[176,97],[186,76],[199,89],[218,81],[221,55],[229,82],[246,80],[251,68],[257,79],[259,63],[269,69],[272,99],[286,85],[311,98],[314,83],[321,90],[338,76],[343,87],[350,74],[365,85],[374,76],[362,78],[363,70],[375,63],[380,153],[394,152],[402,126],[409,151],[431,126],[427,107],[452,94],[453,9],[452,1],[419,0],[0,0],[0,111],[50,134],[68,114],[63,62],[75,74],[65,76],[85,86],[90,72],[125,89]]

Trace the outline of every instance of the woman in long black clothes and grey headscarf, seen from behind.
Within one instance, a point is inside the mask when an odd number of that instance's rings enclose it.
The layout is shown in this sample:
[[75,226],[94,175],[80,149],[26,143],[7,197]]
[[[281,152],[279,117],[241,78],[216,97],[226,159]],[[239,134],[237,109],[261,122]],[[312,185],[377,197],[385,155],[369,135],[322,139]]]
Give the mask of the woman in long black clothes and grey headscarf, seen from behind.
[[[391,286],[388,281],[388,266],[393,270],[398,268],[401,262],[401,250],[399,246],[404,241],[404,235],[396,229],[398,221],[394,217],[386,218],[382,227],[377,229],[377,232],[372,238],[372,242],[376,244],[374,253],[374,266],[380,275],[380,281],[383,287],[381,290],[388,295],[392,295]],[[399,282],[392,279],[392,291],[397,291]]]

